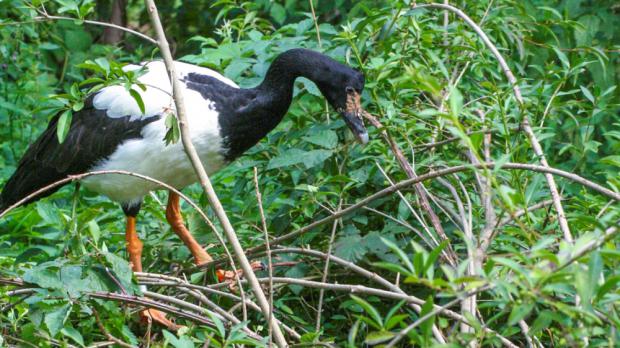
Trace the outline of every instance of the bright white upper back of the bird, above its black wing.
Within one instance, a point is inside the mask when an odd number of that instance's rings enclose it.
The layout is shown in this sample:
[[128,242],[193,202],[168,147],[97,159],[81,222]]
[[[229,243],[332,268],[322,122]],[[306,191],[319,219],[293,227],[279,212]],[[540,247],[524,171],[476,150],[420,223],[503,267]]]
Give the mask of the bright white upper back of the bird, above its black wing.
[[[127,65],[123,69],[125,71],[131,71],[141,69],[144,66],[146,66],[148,72],[140,76],[138,81],[145,85],[146,90],[143,91],[138,86],[132,87],[140,94],[140,97],[142,97],[145,109],[144,114],[140,111],[140,107],[136,100],[123,86],[103,88],[95,95],[93,106],[98,110],[106,110],[108,117],[120,118],[130,116],[131,121],[161,115],[166,112],[166,110],[174,112],[175,106],[172,99],[172,88],[170,87],[166,66],[162,61],[144,62],[140,65]],[[175,68],[180,79],[183,79],[190,73],[197,73],[214,77],[227,85],[238,88],[233,81],[208,68],[183,62],[175,62]],[[183,85],[183,87],[185,86]],[[186,89],[185,91],[188,90]],[[187,95],[187,92],[185,94]],[[198,101],[196,98],[191,99],[193,102]],[[203,102],[205,102],[204,99]],[[206,102],[209,103],[209,101]],[[190,100],[186,101],[186,108],[191,108]]]

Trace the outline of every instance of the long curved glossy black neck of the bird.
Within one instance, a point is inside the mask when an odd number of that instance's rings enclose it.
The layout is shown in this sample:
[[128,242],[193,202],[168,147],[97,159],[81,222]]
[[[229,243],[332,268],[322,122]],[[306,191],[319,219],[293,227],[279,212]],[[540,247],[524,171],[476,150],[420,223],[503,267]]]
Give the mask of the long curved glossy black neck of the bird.
[[[321,86],[329,77],[330,67],[334,64],[338,63],[320,53],[293,49],[274,60],[264,81],[255,88],[235,89],[221,82],[217,91],[191,84],[188,87],[200,88],[205,98],[215,102],[224,138],[224,156],[227,160],[233,160],[280,123],[291,105],[293,83],[297,77],[306,77]],[[189,80],[191,82],[191,76]],[[209,89],[208,93],[204,93],[205,88]]]

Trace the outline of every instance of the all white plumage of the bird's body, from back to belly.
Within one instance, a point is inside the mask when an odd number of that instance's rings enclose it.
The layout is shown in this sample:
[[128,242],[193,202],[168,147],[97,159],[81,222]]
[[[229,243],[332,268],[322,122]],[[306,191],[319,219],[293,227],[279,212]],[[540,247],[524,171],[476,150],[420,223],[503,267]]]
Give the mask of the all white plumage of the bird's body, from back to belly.
[[[99,92],[93,105],[106,110],[108,117],[125,117],[131,115],[133,120],[174,112],[174,102],[170,96],[170,83],[162,62],[147,63],[148,73],[140,77],[140,82],[147,85],[146,91],[134,87],[142,96],[145,113],[142,114],[131,95],[121,86],[106,87]],[[232,81],[220,74],[190,64],[176,62],[175,67],[180,77],[190,72],[213,76],[222,82],[237,87]],[[140,66],[129,66],[138,69]],[[185,86],[183,84],[183,86]],[[218,123],[218,113],[213,102],[206,100],[194,90],[185,88],[185,107],[192,142],[207,170],[213,173],[220,169],[225,160],[222,157],[222,138]],[[165,117],[149,123],[142,130],[141,139],[128,140],[117,147],[107,159],[101,161],[91,170],[125,170],[153,177],[176,188],[183,188],[196,182],[197,178],[185,155],[183,145],[166,145]],[[133,203],[139,201],[157,185],[139,178],[125,175],[100,175],[89,177],[84,185],[95,192],[105,194],[112,200]]]

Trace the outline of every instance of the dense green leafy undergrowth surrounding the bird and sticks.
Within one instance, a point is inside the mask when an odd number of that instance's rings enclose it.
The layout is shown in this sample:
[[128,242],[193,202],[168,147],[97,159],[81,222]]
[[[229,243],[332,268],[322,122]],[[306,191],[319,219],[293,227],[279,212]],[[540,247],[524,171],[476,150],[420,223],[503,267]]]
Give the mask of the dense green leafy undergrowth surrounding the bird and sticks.
[[[522,115],[527,114],[552,167],[618,192],[620,3],[481,0],[451,4],[469,14],[500,48],[519,79],[526,101],[523,108],[471,28],[454,15],[446,22],[442,11],[411,10],[409,1],[315,1],[316,23],[310,2],[191,0],[158,6],[176,57],[221,71],[243,87],[258,84],[273,58],[293,47],[319,50],[362,70],[366,109],[379,117],[418,174],[468,163],[468,152],[484,152],[487,130],[494,161],[537,163],[519,128]],[[124,5],[127,26],[152,33],[142,2]],[[33,23],[34,9],[41,6],[50,14],[77,20]],[[4,125],[0,127],[0,181],[12,174],[47,121],[82,97],[79,82],[96,72],[80,64],[95,59],[123,64],[157,55],[153,46],[130,35],[106,44],[100,27],[79,20],[107,21],[111,8],[112,1],[105,0],[0,2],[0,122]],[[454,137],[457,141],[443,146],[426,145]],[[299,79],[294,103],[278,128],[213,176],[244,246],[264,243],[253,167],[259,172],[269,233],[278,236],[389,186],[388,178],[406,179],[374,128],[371,139],[366,147],[355,144],[317,88]],[[571,255],[618,225],[618,203],[558,179],[576,239],[570,244],[562,240],[555,211],[548,204],[514,218],[515,212],[550,198],[541,174],[494,170],[491,175],[494,212],[499,221],[508,220],[494,227],[488,257],[476,274],[468,273],[468,248],[485,228],[485,209],[471,172],[425,182],[434,198],[432,207],[458,256],[455,264],[438,257],[445,243],[438,247],[420,237],[440,239],[411,190],[376,200],[340,220],[334,229],[333,254],[422,298],[426,301],[422,314],[432,304],[448,303],[455,294],[490,287],[478,294],[477,313],[465,313],[474,330],[460,329],[458,321],[445,315],[431,316],[409,332],[401,342],[404,345],[437,344],[432,323],[456,346],[500,345],[497,336],[483,327],[519,346],[617,345],[618,238],[612,236],[576,260]],[[245,336],[241,329],[247,326],[267,335],[256,312],[250,311],[248,321],[234,327],[203,326],[179,318],[185,329],[171,333],[154,328],[147,340],[135,306],[89,296],[92,291],[122,288],[140,294],[140,290],[125,261],[122,212],[104,197],[84,189],[79,195],[74,191],[74,186],[67,186],[0,220],[0,276],[19,277],[34,289],[22,296],[10,293],[11,286],[0,290],[1,344],[88,346],[106,341],[96,317],[105,331],[130,345],[147,341],[174,347],[200,346],[205,341],[214,346],[265,344]],[[184,192],[207,206],[198,187]],[[165,223],[161,202],[165,202],[163,193],[147,197],[139,217],[145,268],[184,274],[195,284],[214,282],[210,271],[187,271],[190,254]],[[199,242],[210,253],[223,255],[200,216],[186,205],[184,213]],[[465,233],[468,227],[474,240]],[[287,244],[326,252],[330,232],[331,226],[326,225]],[[324,272],[322,259],[299,254],[277,254],[274,262],[289,262],[274,269],[279,277],[320,281]],[[265,277],[266,272],[259,276]],[[333,263],[327,282],[378,287]],[[175,288],[150,289],[184,298]],[[421,316],[395,299],[328,290],[317,326],[318,289],[279,284],[273,292],[276,316],[301,334],[306,345],[383,344]],[[223,308],[233,305],[225,297],[209,298]],[[529,328],[528,334],[522,324]]]

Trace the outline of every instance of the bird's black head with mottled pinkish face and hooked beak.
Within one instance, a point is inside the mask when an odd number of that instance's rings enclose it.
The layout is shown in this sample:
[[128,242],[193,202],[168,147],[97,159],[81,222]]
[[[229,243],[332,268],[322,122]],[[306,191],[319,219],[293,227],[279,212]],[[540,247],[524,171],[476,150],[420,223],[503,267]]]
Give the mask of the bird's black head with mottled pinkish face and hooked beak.
[[345,123],[361,144],[368,142],[368,131],[362,119],[361,94],[364,90],[364,74],[346,65],[336,63],[317,83],[321,93],[331,106],[344,118]]

